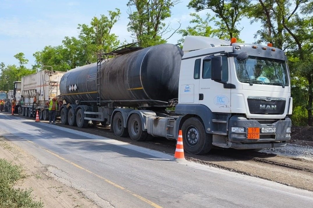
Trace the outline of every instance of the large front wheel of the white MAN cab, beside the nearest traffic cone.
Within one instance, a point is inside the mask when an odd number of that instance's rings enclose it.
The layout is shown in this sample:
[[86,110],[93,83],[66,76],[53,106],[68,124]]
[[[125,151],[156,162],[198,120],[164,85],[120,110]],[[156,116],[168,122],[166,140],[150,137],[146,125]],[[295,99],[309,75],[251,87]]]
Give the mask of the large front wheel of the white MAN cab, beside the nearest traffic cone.
[[206,154],[212,149],[212,134],[205,132],[198,118],[188,118],[182,125],[184,150],[190,154]]

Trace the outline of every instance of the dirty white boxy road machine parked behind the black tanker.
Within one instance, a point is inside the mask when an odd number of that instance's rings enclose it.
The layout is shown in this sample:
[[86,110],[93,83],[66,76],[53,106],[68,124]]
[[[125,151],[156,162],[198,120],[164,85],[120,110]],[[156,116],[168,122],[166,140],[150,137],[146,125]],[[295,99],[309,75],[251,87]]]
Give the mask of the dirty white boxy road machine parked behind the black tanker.
[[39,111],[41,120],[49,120],[48,107],[45,103],[60,94],[60,79],[65,72],[42,70],[35,74],[22,77],[21,92],[23,104],[21,114],[35,117]]

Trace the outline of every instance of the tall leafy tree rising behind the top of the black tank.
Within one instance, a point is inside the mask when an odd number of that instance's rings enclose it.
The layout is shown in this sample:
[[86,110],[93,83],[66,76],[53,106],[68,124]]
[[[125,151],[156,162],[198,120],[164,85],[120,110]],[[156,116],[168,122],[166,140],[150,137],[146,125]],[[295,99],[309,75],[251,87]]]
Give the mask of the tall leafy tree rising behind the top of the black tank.
[[[140,41],[140,47],[149,47],[166,43],[178,29],[173,29],[170,23],[166,25],[164,20],[171,17],[171,8],[180,0],[129,0],[128,31],[132,38]],[[167,38],[164,36],[169,34]]]

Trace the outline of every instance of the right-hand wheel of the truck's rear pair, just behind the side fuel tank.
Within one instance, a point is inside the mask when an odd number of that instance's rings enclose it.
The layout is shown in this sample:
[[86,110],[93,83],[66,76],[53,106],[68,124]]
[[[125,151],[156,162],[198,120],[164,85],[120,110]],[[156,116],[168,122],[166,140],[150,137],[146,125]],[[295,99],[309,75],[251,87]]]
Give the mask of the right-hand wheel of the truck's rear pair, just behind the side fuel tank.
[[142,131],[141,118],[136,113],[129,117],[128,133],[133,141],[145,141],[147,139],[148,132]]

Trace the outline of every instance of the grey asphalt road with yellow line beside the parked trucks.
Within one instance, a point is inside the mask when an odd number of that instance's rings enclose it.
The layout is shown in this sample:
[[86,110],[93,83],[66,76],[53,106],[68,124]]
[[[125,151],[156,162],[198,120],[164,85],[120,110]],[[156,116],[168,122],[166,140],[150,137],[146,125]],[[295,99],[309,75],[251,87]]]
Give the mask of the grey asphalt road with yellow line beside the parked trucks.
[[313,207],[313,192],[0,113],[0,134],[103,207]]

